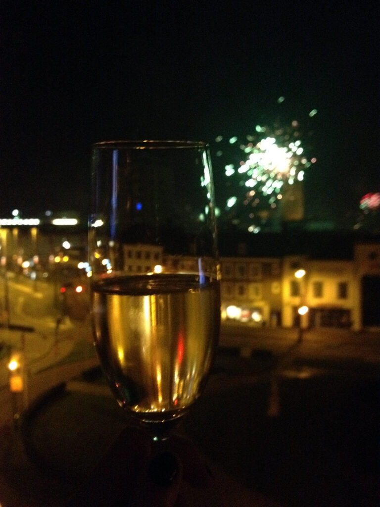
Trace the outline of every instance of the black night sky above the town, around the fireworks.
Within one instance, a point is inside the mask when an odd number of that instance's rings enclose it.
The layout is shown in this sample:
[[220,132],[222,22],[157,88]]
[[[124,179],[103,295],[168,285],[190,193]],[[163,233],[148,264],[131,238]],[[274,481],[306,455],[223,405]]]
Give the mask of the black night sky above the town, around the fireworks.
[[343,216],[380,191],[377,1],[0,9],[2,216],[86,211],[95,141],[213,142],[277,117],[302,127],[313,108],[307,213]]

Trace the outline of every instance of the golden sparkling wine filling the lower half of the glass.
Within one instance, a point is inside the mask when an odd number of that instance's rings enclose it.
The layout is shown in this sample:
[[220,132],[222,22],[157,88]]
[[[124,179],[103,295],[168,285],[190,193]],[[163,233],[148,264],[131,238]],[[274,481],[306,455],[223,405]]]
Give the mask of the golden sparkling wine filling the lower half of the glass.
[[219,283],[143,275],[93,287],[95,345],[119,404],[144,421],[182,415],[200,395],[217,345]]

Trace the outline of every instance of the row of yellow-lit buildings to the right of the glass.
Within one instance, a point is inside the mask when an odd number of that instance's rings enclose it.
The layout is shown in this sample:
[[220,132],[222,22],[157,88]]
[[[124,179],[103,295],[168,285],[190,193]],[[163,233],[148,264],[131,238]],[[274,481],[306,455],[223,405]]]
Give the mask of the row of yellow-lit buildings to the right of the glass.
[[[380,328],[377,243],[356,244],[349,260],[222,258],[221,271],[225,319],[285,328]],[[299,315],[300,307],[305,314]]]

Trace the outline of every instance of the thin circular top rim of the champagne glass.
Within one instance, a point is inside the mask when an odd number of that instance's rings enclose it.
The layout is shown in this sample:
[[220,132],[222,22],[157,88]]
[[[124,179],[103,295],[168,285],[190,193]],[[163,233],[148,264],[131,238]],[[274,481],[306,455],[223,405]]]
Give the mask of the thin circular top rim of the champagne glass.
[[118,141],[99,141],[92,145],[93,150],[144,150],[144,149],[155,149],[155,150],[167,150],[167,149],[202,149],[206,150],[209,148],[209,144],[205,141],[184,141],[184,140],[118,140]]

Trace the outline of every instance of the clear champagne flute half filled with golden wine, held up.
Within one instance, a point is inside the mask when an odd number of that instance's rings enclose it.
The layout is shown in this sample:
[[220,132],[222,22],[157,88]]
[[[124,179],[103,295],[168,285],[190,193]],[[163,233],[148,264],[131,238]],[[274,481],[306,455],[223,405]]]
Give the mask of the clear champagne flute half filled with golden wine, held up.
[[95,347],[119,404],[165,439],[202,393],[220,324],[208,146],[93,146],[89,220]]

